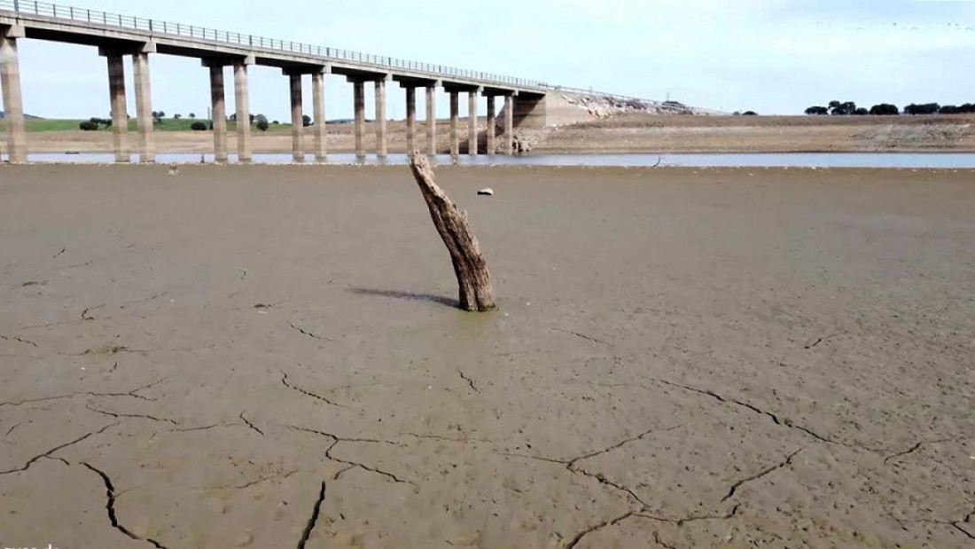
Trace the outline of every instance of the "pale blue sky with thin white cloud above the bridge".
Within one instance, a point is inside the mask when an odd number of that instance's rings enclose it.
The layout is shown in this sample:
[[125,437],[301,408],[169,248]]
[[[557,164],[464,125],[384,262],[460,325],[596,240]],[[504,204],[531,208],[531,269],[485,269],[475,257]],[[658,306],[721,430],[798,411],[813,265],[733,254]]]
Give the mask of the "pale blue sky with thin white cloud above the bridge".
[[[317,46],[447,64],[724,111],[801,114],[832,99],[975,102],[973,0],[77,0],[75,7]],[[272,7],[273,6],[273,7]],[[198,59],[151,58],[153,106],[205,117]],[[108,116],[95,48],[20,40],[28,114]],[[135,113],[131,60],[130,112]],[[232,82],[227,72],[227,82]],[[311,112],[310,77],[305,111]],[[368,88],[369,89],[369,88]],[[404,93],[387,91],[391,118]],[[227,111],[233,112],[228,86]],[[438,113],[448,110],[440,93]],[[423,94],[417,95],[422,118]],[[485,112],[481,99],[481,112]],[[372,115],[371,91],[367,116]],[[461,101],[461,113],[466,112]],[[352,85],[327,81],[329,119],[352,116]],[[290,115],[288,79],[252,67],[251,107]],[[2,107],[0,107],[2,109]]]

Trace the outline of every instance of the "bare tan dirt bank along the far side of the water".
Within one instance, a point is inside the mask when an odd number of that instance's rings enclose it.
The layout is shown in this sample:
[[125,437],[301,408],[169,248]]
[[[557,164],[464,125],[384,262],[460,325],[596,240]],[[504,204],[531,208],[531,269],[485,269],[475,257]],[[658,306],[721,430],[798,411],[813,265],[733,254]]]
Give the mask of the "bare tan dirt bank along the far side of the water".
[[[975,117],[951,116],[694,116],[627,112],[599,118],[585,105],[561,102],[549,112],[552,126],[516,128],[515,136],[526,152],[560,153],[680,153],[680,152],[975,152]],[[487,152],[487,120],[479,121],[479,150]],[[466,122],[461,123],[466,136]],[[367,128],[367,148],[373,150],[374,134]],[[449,124],[438,124],[438,151],[449,151]],[[228,136],[230,150],[236,138]],[[27,136],[31,152],[111,152],[107,132],[49,132]],[[307,151],[312,135],[306,129]],[[499,139],[500,142],[500,139]],[[211,154],[209,132],[160,132],[161,153]],[[417,143],[426,143],[425,126],[417,129]],[[137,137],[130,135],[133,153]],[[291,152],[287,133],[254,134],[254,152]],[[328,148],[333,153],[355,150],[352,126],[329,127]],[[463,139],[461,152],[467,151]],[[389,124],[389,150],[406,152],[406,125]]]

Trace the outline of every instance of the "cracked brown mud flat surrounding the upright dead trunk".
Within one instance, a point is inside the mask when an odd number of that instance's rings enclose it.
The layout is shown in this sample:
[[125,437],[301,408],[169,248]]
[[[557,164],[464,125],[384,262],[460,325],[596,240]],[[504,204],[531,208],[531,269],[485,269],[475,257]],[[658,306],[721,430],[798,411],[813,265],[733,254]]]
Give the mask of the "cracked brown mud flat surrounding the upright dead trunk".
[[975,543],[971,173],[438,176],[0,168],[0,546]]

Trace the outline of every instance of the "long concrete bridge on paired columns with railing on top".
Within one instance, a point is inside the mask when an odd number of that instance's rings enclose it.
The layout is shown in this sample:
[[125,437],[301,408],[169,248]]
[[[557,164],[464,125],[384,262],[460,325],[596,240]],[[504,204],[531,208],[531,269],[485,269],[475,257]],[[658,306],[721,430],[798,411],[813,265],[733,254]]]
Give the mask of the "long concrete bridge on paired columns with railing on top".
[[[355,149],[364,157],[366,150],[365,87],[375,89],[374,152],[385,156],[388,148],[386,129],[386,89],[396,82],[405,90],[407,100],[407,150],[436,152],[437,113],[435,94],[438,88],[449,94],[450,152],[460,151],[460,95],[468,98],[468,149],[478,154],[478,96],[487,98],[487,152],[497,150],[497,112],[495,99],[503,98],[503,132],[500,150],[511,154],[515,126],[544,125],[545,97],[556,90],[541,82],[459,68],[370,56],[334,48],[238,34],[199,26],[161,20],[146,20],[118,14],[35,2],[0,0],[0,83],[6,110],[8,153],[11,162],[26,160],[26,133],[20,90],[18,40],[30,38],[98,47],[106,59],[108,90],[112,112],[115,157],[128,162],[126,139],[128,112],[126,103],[125,56],[132,56],[137,110],[137,152],[142,162],[153,162],[152,93],[150,55],[165,54],[201,59],[209,69],[214,120],[214,150],[217,162],[228,160],[225,107],[224,67],[233,67],[236,98],[236,120],[249,121],[248,68],[266,65],[280,68],[289,79],[292,111],[292,151],[295,161],[303,161],[305,146],[302,131],[303,76],[311,75],[314,125],[314,154],[324,160],[327,154],[325,116],[325,75],[345,76],[353,85],[355,104]],[[416,90],[426,93],[425,143],[417,142]],[[578,90],[577,92],[584,92]],[[252,159],[251,125],[237,125],[237,157],[241,162]]]

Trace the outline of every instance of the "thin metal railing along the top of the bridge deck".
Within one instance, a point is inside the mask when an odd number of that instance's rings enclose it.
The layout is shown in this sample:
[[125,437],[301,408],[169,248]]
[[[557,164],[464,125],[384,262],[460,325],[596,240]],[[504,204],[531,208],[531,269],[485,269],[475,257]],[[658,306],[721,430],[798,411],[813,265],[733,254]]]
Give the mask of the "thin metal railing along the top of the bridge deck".
[[[90,24],[100,24],[108,27],[148,32],[150,35],[181,36],[197,40],[212,41],[218,44],[244,46],[250,50],[259,49],[271,52],[300,54],[326,60],[352,61],[358,64],[368,65],[377,70],[406,69],[436,79],[452,77],[471,80],[481,84],[495,84],[499,86],[531,91],[561,92],[566,94],[598,96],[603,98],[614,98],[619,101],[641,101],[644,104],[656,106],[663,104],[659,101],[619,96],[616,94],[607,94],[603,92],[594,92],[592,90],[583,90],[581,88],[552,86],[544,82],[529,80],[526,78],[516,78],[513,76],[504,76],[489,72],[479,72],[449,65],[426,63],[409,59],[397,59],[386,56],[375,56],[372,54],[342,50],[339,48],[312,46],[310,44],[278,40],[275,38],[266,38],[263,36],[255,36],[253,34],[241,34],[239,32],[217,30],[214,28],[206,28],[167,20],[149,20],[135,16],[112,14],[108,12],[100,12],[98,10],[76,8],[73,6],[64,6],[35,0],[0,0],[0,11],[13,12],[15,17],[32,15],[60,20],[72,20]],[[704,109],[697,110],[704,111]]]

